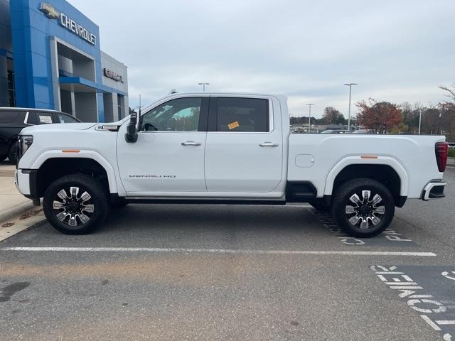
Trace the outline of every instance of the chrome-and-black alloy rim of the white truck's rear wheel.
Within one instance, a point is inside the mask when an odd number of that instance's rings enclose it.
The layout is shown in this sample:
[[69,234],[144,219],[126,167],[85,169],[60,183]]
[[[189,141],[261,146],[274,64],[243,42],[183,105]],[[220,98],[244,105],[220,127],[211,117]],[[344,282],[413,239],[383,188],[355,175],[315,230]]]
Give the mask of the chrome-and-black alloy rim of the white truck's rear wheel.
[[346,217],[353,227],[360,229],[375,227],[385,215],[385,206],[380,206],[382,197],[379,194],[372,197],[370,190],[362,190],[360,197],[357,193],[350,196],[346,205]]

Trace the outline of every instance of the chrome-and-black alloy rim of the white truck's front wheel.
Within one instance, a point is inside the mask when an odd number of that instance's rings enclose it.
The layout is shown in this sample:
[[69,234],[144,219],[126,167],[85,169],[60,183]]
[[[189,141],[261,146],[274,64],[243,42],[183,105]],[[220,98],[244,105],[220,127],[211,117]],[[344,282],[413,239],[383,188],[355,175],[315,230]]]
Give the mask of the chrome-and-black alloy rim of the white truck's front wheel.
[[60,190],[53,201],[55,216],[60,222],[68,226],[77,226],[90,221],[95,210],[94,205],[90,202],[92,197],[89,193],[82,192],[78,187],[70,187],[70,195],[65,189]]

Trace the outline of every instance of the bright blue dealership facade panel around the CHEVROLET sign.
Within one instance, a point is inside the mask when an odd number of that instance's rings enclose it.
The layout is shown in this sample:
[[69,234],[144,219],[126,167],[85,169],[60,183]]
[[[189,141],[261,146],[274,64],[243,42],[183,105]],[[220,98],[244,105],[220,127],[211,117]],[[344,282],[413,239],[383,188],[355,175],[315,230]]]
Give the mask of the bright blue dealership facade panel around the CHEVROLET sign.
[[[50,12],[41,10],[42,4],[50,5]],[[16,81],[16,105],[54,109],[53,70],[50,39],[63,40],[95,59],[95,80],[102,83],[100,30],[80,11],[64,0],[11,0],[11,31],[13,33],[14,73]],[[69,31],[62,22],[75,23],[96,36],[95,45],[87,41],[85,31],[80,35]],[[79,30],[80,31],[80,30]],[[82,36],[81,36],[82,35]],[[97,99],[99,119],[104,111],[101,98]]]

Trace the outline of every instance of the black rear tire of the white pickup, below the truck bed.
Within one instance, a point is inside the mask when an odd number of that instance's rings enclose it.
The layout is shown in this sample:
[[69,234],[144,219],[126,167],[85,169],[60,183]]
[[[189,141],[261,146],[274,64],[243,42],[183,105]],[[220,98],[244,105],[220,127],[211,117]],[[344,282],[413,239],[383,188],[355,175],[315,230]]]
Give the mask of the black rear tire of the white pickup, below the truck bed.
[[[378,197],[380,201],[376,202]],[[369,178],[356,178],[341,184],[336,191],[332,215],[350,236],[370,238],[389,227],[395,215],[395,200],[382,183]]]

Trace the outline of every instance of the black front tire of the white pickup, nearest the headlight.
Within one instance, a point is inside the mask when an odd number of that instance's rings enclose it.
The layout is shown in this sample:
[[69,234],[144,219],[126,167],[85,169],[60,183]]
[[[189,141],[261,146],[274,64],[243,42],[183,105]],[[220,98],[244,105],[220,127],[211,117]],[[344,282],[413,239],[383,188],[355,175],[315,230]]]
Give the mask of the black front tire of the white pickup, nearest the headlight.
[[[70,188],[78,189],[74,197]],[[61,190],[65,190],[63,197],[58,195]],[[106,219],[109,212],[109,200],[106,192],[102,184],[89,175],[66,175],[51,183],[45,191],[43,199],[45,217],[55,229],[62,233],[90,233]],[[84,200],[86,198],[85,193],[90,195],[89,199]],[[64,199],[65,196],[66,200]],[[55,202],[60,202],[60,204]],[[56,207],[61,205],[62,207],[54,208],[54,205]],[[62,215],[59,219],[60,213]],[[86,220],[87,217],[88,220]],[[86,221],[84,222],[84,220]]]

